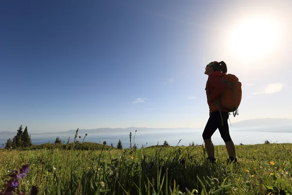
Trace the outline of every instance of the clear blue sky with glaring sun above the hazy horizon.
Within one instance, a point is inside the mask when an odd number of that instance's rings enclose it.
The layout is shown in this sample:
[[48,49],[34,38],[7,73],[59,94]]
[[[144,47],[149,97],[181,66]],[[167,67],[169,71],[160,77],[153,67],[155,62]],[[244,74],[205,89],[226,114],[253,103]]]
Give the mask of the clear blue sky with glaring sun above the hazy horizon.
[[204,127],[206,64],[231,122],[291,114],[292,1],[2,1],[0,131]]

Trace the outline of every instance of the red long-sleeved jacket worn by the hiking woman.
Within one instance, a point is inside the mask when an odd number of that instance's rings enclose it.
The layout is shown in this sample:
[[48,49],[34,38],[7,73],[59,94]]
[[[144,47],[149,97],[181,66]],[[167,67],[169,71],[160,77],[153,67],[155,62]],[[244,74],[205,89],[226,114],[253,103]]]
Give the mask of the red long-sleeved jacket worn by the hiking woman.
[[205,90],[210,112],[218,111],[219,108],[221,111],[228,112],[226,109],[223,109],[220,106],[221,105],[220,96],[225,88],[224,83],[222,81],[222,77],[224,76],[224,74],[225,73],[221,73],[220,71],[214,71],[208,77]]

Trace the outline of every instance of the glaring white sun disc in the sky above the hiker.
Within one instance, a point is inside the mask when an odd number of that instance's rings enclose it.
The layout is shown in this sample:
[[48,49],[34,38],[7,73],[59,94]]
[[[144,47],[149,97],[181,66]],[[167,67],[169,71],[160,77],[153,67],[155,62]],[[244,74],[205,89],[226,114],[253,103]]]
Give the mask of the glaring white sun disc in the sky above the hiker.
[[238,59],[262,59],[277,47],[277,23],[270,17],[244,20],[231,31],[229,50]]

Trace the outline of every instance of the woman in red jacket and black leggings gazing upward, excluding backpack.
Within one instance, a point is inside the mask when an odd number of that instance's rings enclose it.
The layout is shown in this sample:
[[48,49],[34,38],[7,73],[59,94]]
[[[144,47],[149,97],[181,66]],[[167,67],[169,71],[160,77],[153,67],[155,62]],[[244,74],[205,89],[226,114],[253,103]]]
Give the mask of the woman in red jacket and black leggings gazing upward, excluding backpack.
[[[225,142],[229,155],[228,162],[237,162],[234,143],[229,135],[228,118],[229,112],[220,106],[220,95],[224,91],[222,76],[227,73],[227,66],[224,61],[210,62],[205,69],[205,75],[208,75],[206,84],[207,102],[210,109],[209,119],[203,131],[203,139],[207,152],[207,160],[216,162],[214,156],[214,145],[211,137],[219,129],[220,135]],[[220,109],[220,110],[219,110]]]

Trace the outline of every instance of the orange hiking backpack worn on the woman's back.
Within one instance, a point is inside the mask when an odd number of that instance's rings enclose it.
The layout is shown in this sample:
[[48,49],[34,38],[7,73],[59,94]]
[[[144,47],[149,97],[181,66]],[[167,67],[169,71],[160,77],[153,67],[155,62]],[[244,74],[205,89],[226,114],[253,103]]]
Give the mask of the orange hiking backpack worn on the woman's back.
[[222,107],[227,109],[228,112],[235,112],[233,115],[237,114],[237,109],[241,102],[241,82],[238,81],[238,78],[232,74],[225,74],[222,77],[225,89],[221,95]]

